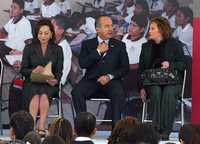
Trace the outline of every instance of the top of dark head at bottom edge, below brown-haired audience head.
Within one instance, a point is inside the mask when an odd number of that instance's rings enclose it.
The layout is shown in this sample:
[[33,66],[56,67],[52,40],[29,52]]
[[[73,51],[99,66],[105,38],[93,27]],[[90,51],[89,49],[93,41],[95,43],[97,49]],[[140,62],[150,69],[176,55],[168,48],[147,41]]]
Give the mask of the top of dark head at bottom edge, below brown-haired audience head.
[[59,136],[47,136],[42,144],[65,144],[64,140]]

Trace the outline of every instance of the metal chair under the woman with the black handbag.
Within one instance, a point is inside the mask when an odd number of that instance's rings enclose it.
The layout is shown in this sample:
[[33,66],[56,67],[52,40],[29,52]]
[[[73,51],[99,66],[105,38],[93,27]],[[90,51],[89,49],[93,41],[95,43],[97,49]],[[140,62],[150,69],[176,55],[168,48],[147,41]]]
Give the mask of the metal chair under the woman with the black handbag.
[[[184,98],[186,75],[187,75],[186,70],[184,70],[184,77],[183,77],[183,83],[182,83],[182,88],[181,88],[181,97],[180,97],[180,100],[178,101],[180,103],[180,107],[181,107],[181,118],[180,118],[180,120],[175,121],[175,123],[181,124],[182,126],[185,123],[185,121],[184,121],[184,106],[189,105],[189,101],[191,100],[191,98]],[[152,120],[147,119],[147,111],[148,111],[148,103],[149,102],[150,102],[149,99],[147,99],[145,102],[143,102],[142,122],[152,122]]]

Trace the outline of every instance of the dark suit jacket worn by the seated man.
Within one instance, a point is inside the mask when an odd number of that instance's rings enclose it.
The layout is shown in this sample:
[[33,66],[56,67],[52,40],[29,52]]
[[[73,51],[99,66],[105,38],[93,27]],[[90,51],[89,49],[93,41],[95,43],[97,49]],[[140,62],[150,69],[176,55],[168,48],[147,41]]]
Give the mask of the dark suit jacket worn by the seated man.
[[129,61],[125,44],[111,38],[106,55],[97,52],[98,39],[93,38],[82,43],[79,64],[86,69],[85,79],[98,79],[102,75],[111,74],[120,79],[129,69]]

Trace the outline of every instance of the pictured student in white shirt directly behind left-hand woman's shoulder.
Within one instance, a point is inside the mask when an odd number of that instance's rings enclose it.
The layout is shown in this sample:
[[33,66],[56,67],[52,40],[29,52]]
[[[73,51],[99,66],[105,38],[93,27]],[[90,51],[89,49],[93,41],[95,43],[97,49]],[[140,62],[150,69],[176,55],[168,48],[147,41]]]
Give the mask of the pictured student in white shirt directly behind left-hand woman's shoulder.
[[72,51],[69,43],[64,37],[66,24],[63,21],[63,17],[56,16],[55,18],[52,19],[52,24],[55,30],[56,43],[63,49],[64,62],[63,62],[63,71],[62,71],[63,74],[61,77],[61,84],[65,85],[67,81],[67,76],[71,69]]

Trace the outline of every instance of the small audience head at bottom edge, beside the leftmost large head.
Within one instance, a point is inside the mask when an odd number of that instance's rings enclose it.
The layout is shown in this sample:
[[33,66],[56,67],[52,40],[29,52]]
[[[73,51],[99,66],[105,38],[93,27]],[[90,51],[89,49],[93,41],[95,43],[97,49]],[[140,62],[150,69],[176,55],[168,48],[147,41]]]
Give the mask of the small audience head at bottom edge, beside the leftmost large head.
[[28,132],[24,136],[23,141],[25,143],[29,142],[30,144],[41,144],[40,135],[38,133],[36,133],[35,131]]

